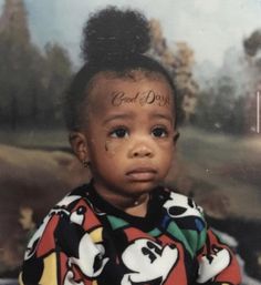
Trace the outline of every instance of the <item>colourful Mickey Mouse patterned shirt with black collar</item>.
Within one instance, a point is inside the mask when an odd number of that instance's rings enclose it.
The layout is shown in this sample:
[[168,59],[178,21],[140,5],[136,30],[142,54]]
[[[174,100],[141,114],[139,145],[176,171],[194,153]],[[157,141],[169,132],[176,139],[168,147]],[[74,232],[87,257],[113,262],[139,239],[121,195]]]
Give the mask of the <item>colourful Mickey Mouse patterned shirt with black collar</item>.
[[20,284],[236,285],[240,269],[191,199],[159,186],[138,217],[104,201],[91,183],[43,220],[28,244]]

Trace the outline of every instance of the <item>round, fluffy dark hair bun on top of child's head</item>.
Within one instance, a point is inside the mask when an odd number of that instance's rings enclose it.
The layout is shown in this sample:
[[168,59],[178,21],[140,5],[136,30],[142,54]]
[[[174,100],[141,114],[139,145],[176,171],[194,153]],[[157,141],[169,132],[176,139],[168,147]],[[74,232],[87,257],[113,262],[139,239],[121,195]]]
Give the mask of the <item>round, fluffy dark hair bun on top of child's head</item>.
[[127,60],[149,48],[149,23],[134,10],[108,7],[91,16],[83,30],[83,58],[97,65]]

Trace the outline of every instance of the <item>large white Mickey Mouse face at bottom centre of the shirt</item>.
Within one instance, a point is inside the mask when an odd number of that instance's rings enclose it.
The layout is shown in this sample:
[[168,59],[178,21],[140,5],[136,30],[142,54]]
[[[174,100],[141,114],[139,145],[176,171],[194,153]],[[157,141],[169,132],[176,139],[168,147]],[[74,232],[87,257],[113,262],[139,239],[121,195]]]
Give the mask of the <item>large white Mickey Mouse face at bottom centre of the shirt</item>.
[[178,259],[178,250],[161,246],[150,240],[140,238],[130,244],[122,255],[123,263],[132,271],[125,274],[122,285],[159,281],[161,284]]

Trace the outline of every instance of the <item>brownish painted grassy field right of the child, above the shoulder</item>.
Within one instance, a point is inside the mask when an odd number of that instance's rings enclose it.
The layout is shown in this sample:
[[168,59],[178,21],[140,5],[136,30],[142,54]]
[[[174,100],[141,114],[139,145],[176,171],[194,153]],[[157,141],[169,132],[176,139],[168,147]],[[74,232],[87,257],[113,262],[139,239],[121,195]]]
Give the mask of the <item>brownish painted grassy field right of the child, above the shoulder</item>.
[[207,203],[208,211],[220,206],[227,216],[261,220],[261,135],[239,138],[186,129],[178,152],[192,183],[190,191]]

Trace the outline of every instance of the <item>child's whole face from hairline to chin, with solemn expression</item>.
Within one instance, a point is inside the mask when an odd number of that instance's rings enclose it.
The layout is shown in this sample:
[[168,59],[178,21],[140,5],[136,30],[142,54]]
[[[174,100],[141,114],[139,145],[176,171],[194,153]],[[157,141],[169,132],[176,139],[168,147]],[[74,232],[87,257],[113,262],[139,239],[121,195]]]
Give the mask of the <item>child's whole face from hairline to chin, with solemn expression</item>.
[[96,189],[140,195],[165,179],[175,144],[173,104],[163,78],[96,75],[83,111],[85,156],[79,155],[91,162]]

